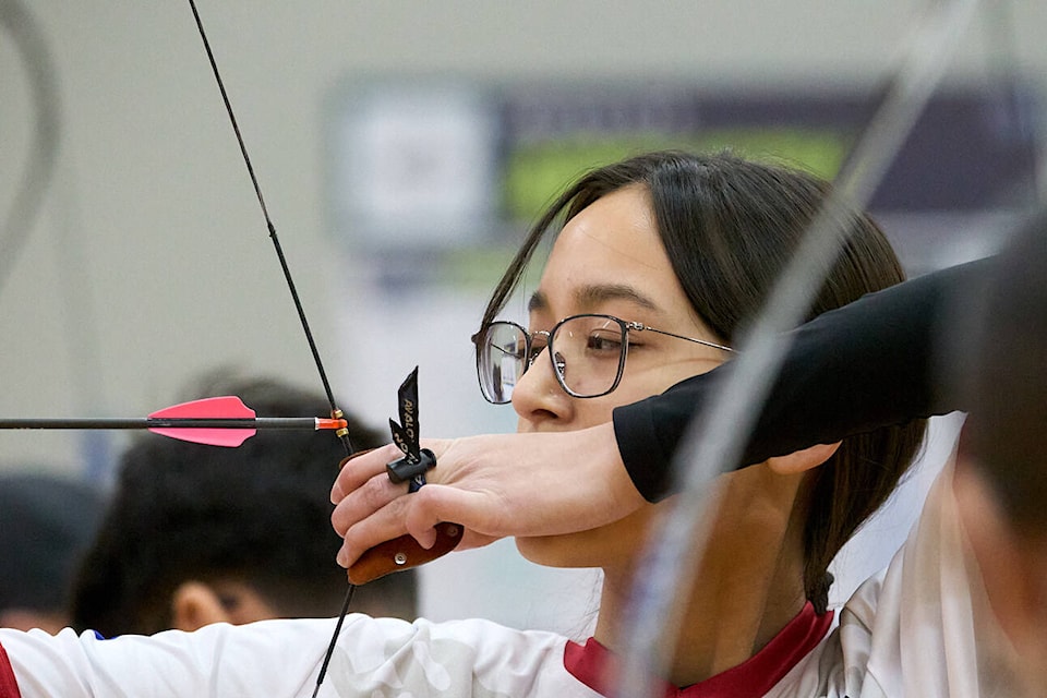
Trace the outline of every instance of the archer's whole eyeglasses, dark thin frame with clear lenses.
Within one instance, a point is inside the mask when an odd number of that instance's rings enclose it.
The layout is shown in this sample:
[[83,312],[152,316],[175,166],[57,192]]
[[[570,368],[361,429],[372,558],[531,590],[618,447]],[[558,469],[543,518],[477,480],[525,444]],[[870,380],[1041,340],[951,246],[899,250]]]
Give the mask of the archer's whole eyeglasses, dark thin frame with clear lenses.
[[606,395],[618,387],[622,381],[630,332],[653,332],[723,351],[734,351],[731,347],[674,335],[614,315],[571,315],[556,323],[549,332],[534,333],[528,333],[516,323],[500,320],[472,336],[477,346],[480,392],[489,402],[509,402],[517,382],[547,347],[556,381],[568,395]]

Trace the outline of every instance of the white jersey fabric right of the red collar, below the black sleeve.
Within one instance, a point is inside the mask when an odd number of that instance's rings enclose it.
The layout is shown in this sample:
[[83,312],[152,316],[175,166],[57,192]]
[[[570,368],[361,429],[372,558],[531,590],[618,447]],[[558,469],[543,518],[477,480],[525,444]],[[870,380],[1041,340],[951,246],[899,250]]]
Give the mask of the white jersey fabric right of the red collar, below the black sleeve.
[[982,586],[952,494],[952,466],[887,569],[769,698],[1014,696],[1013,650]]

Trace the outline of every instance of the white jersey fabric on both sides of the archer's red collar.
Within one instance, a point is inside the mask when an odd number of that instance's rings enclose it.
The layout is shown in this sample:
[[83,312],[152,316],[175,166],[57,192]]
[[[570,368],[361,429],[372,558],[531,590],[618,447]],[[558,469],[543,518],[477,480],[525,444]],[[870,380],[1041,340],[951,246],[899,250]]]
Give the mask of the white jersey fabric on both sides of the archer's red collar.
[[[1015,694],[1004,669],[1009,648],[970,562],[951,477],[946,468],[890,566],[854,593],[838,627],[820,642],[814,638],[813,651],[790,660],[795,664],[769,698]],[[267,621],[111,640],[0,630],[0,698],[310,696],[333,628],[334,621]],[[320,695],[595,698],[565,669],[567,647],[559,635],[486,621],[411,624],[353,614]],[[758,658],[727,673],[762,673]],[[676,695],[736,695],[710,691],[713,679]]]

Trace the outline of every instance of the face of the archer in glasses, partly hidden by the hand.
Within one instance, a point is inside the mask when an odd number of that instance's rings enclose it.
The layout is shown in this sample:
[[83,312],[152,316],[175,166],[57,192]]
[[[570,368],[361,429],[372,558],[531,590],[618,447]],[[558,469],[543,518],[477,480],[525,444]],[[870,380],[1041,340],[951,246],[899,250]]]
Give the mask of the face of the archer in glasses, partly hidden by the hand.
[[[718,340],[684,296],[659,238],[647,191],[640,186],[598,200],[564,227],[532,297],[529,329],[550,330],[564,317],[580,313],[614,315],[686,337]],[[518,431],[571,431],[604,423],[615,407],[705,373],[725,356],[683,339],[633,332],[618,387],[602,397],[576,398],[561,387],[550,353],[543,351],[513,393]],[[640,544],[647,516],[649,512],[641,510],[601,529],[517,539],[517,546],[540,564],[604,567],[609,559],[631,552],[628,541]]]

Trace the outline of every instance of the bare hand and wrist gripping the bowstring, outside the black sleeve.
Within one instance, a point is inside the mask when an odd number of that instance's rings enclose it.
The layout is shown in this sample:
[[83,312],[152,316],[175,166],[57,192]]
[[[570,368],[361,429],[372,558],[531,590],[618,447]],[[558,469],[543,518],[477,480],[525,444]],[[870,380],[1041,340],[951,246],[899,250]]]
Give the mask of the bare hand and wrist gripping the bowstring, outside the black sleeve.
[[344,462],[332,489],[335,530],[345,538],[338,564],[405,533],[429,547],[433,527],[466,528],[457,550],[506,535],[550,535],[609,524],[643,504],[618,458],[610,422],[577,432],[489,434],[422,440],[436,456],[429,484],[409,497],[385,464],[392,444]]

